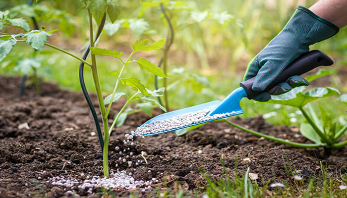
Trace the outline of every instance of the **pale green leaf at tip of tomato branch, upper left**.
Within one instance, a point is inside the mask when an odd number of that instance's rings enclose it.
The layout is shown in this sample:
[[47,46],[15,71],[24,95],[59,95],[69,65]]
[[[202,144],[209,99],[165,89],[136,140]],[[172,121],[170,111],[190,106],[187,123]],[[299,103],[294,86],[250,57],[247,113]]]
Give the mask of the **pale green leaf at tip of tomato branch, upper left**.
[[47,43],[47,38],[50,36],[53,36],[53,34],[40,30],[32,30],[23,35],[23,38],[26,38],[25,42],[32,48],[42,51],[45,43]]

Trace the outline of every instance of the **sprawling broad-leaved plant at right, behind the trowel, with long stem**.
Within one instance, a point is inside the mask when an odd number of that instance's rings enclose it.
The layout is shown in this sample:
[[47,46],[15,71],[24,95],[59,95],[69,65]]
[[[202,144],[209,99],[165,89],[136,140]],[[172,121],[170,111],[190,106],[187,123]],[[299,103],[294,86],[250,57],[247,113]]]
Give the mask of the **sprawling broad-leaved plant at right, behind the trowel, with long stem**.
[[[319,78],[331,73],[332,71],[330,70],[319,70],[316,74],[308,76],[307,79],[314,80],[316,78]],[[337,89],[331,88],[331,87],[315,88],[310,91],[305,91],[305,89],[306,89],[305,87],[297,87],[286,94],[282,94],[279,96],[272,96],[272,99],[269,100],[268,103],[288,105],[294,108],[298,108],[307,122],[307,123],[303,122],[300,124],[300,133],[305,138],[309,139],[315,144],[294,143],[288,140],[279,139],[276,137],[264,135],[256,131],[246,129],[242,126],[232,123],[231,121],[227,119],[221,119],[220,121],[225,121],[231,126],[241,129],[242,131],[245,131],[253,135],[263,137],[265,139],[269,139],[275,142],[279,142],[281,144],[286,144],[286,145],[290,145],[290,146],[298,147],[298,148],[322,147],[325,149],[325,152],[327,155],[331,154],[331,149],[333,148],[345,147],[347,145],[347,141],[340,142],[345,137],[345,133],[347,131],[347,121],[345,119],[345,116],[341,115],[338,118],[333,119],[332,116],[330,116],[326,112],[325,108],[323,107],[324,105],[321,105],[320,118],[319,118],[318,114],[313,110],[312,106],[308,104],[309,102],[314,101],[316,99],[323,99],[326,97],[340,95],[340,92]],[[345,95],[343,95],[339,100],[341,100],[342,102],[346,102]],[[309,111],[311,115],[309,115],[306,109],[304,108],[306,105],[309,107]],[[204,124],[206,123],[177,130],[176,135],[182,136],[186,134],[188,131],[196,129]]]

